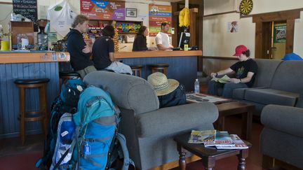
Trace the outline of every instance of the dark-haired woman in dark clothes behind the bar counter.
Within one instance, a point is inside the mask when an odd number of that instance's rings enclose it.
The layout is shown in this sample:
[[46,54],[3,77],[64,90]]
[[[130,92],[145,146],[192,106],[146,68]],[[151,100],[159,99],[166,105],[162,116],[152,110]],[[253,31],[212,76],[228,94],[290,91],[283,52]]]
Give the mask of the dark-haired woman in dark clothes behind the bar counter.
[[147,27],[142,25],[137,33],[134,43],[133,43],[133,51],[157,50],[157,48],[155,48],[155,47],[147,48],[146,36],[148,36],[148,29],[147,29]]

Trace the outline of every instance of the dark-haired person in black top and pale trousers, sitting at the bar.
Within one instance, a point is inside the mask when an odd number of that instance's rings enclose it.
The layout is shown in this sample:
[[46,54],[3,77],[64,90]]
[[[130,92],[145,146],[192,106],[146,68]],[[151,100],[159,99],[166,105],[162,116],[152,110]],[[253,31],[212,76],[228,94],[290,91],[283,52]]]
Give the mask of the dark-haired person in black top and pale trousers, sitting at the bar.
[[133,74],[130,66],[116,62],[114,57],[114,27],[107,25],[103,30],[103,36],[97,38],[93,44],[93,62],[97,70],[109,69],[116,73]]

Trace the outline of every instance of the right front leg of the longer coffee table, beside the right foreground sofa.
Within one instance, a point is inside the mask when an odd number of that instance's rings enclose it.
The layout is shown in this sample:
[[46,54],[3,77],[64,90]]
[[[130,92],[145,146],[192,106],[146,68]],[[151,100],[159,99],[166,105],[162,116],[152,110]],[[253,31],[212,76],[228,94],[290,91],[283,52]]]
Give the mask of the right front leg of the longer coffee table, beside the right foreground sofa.
[[242,113],[242,128],[241,137],[243,139],[250,139],[253,124],[253,109],[248,109],[247,113]]

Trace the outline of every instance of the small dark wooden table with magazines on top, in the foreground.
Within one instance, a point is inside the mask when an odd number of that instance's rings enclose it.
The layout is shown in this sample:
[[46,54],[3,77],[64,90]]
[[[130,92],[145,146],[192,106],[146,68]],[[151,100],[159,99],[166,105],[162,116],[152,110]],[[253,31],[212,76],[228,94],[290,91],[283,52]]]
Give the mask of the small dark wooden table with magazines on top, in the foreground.
[[[215,161],[224,157],[236,155],[238,157],[238,170],[245,169],[245,159],[248,157],[248,149],[234,149],[234,150],[217,150],[216,148],[206,148],[203,144],[188,143],[190,132],[175,136],[174,140],[177,142],[177,150],[180,154],[179,166],[180,169],[186,169],[185,155],[187,151],[202,158],[203,166],[207,170],[215,169]],[[244,141],[248,147],[252,147],[247,141]]]

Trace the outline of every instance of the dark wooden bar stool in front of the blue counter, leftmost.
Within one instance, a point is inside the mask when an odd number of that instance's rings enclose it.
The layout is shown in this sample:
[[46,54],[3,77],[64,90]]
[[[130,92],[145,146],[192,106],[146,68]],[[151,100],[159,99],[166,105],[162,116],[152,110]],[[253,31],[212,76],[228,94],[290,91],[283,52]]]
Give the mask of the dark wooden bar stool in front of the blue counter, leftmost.
[[[43,133],[46,135],[48,126],[47,104],[46,104],[46,85],[49,82],[48,78],[36,79],[17,79],[15,84],[19,87],[20,92],[20,138],[22,145],[25,143],[25,122],[41,121]],[[27,112],[25,108],[25,89],[39,88],[39,111]],[[27,116],[29,115],[29,116]]]

